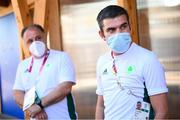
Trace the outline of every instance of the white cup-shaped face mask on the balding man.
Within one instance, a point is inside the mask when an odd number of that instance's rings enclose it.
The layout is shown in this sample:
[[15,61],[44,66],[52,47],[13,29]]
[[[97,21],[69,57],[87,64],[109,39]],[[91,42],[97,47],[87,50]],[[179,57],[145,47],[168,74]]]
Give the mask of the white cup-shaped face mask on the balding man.
[[36,57],[42,57],[45,53],[46,46],[42,41],[34,41],[29,46],[29,51]]

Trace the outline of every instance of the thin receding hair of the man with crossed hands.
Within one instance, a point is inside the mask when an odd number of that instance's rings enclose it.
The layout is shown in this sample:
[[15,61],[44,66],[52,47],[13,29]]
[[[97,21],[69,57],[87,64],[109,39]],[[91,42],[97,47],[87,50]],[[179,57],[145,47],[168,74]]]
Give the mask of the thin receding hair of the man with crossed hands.
[[23,38],[24,33],[26,32],[26,30],[29,29],[29,28],[36,28],[36,29],[40,30],[41,32],[45,33],[45,30],[43,29],[43,27],[41,25],[39,25],[39,24],[31,24],[31,25],[29,25],[27,27],[24,27],[22,29],[22,31],[21,31],[21,37],[22,38]]

